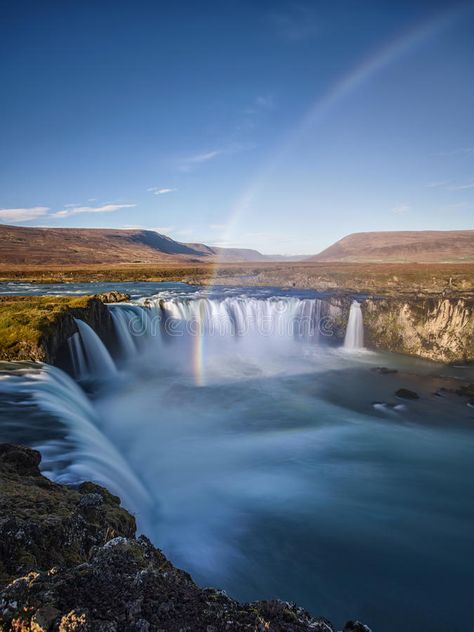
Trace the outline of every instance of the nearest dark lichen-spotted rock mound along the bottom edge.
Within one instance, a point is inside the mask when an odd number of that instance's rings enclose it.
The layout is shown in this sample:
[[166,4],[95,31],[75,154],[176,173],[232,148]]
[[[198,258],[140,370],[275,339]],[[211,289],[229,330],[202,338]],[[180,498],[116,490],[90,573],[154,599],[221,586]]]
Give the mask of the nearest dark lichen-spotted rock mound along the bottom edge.
[[241,605],[221,591],[202,590],[143,537],[115,538],[85,564],[18,579],[3,591],[0,607],[16,630],[32,629],[33,617],[45,618],[47,607],[54,617],[49,626],[61,631],[333,631],[287,603]]

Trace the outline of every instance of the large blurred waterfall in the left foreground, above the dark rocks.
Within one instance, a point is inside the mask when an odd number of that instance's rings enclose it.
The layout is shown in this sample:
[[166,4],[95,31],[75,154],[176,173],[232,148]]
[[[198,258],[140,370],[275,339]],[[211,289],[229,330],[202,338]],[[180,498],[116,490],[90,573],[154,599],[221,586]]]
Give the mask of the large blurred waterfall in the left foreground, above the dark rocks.
[[[83,323],[84,324],[84,323]],[[112,442],[100,431],[100,420],[83,390],[60,369],[39,368],[12,371],[2,375],[0,394],[24,398],[48,416],[48,424],[35,432],[38,414],[23,415],[17,423],[31,423],[33,447],[43,455],[42,470],[50,478],[71,484],[94,480],[118,494],[125,506],[139,512],[142,519],[151,511],[150,495]],[[64,429],[58,433],[51,418]],[[65,430],[65,431],[64,431]],[[144,513],[145,512],[145,513]]]

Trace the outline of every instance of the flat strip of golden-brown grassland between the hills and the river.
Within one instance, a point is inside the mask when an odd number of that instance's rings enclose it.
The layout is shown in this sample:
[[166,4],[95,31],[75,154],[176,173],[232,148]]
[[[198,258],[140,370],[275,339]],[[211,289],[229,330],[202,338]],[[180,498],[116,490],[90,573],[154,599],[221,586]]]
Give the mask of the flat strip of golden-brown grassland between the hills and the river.
[[32,266],[0,264],[0,283],[184,282],[474,299],[474,264],[233,263]]

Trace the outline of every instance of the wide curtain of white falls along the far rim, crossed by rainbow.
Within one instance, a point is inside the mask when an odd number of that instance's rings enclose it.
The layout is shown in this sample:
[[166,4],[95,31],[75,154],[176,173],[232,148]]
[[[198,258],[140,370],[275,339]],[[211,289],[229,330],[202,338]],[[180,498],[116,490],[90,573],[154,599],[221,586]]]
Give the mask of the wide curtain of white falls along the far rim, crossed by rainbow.
[[[259,336],[268,340],[306,340],[318,343],[331,335],[322,327],[320,299],[249,297],[152,297],[136,304],[109,305],[122,360],[157,349],[163,340],[209,336],[231,339]],[[83,340],[84,342],[84,340]],[[70,347],[80,364],[78,341]]]

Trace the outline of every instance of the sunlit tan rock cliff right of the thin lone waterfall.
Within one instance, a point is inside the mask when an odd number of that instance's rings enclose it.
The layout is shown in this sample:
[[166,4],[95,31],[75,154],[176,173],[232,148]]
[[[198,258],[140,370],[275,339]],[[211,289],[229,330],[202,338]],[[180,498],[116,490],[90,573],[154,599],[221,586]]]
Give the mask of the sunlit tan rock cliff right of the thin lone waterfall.
[[369,299],[362,303],[369,347],[438,362],[474,358],[474,301]]

